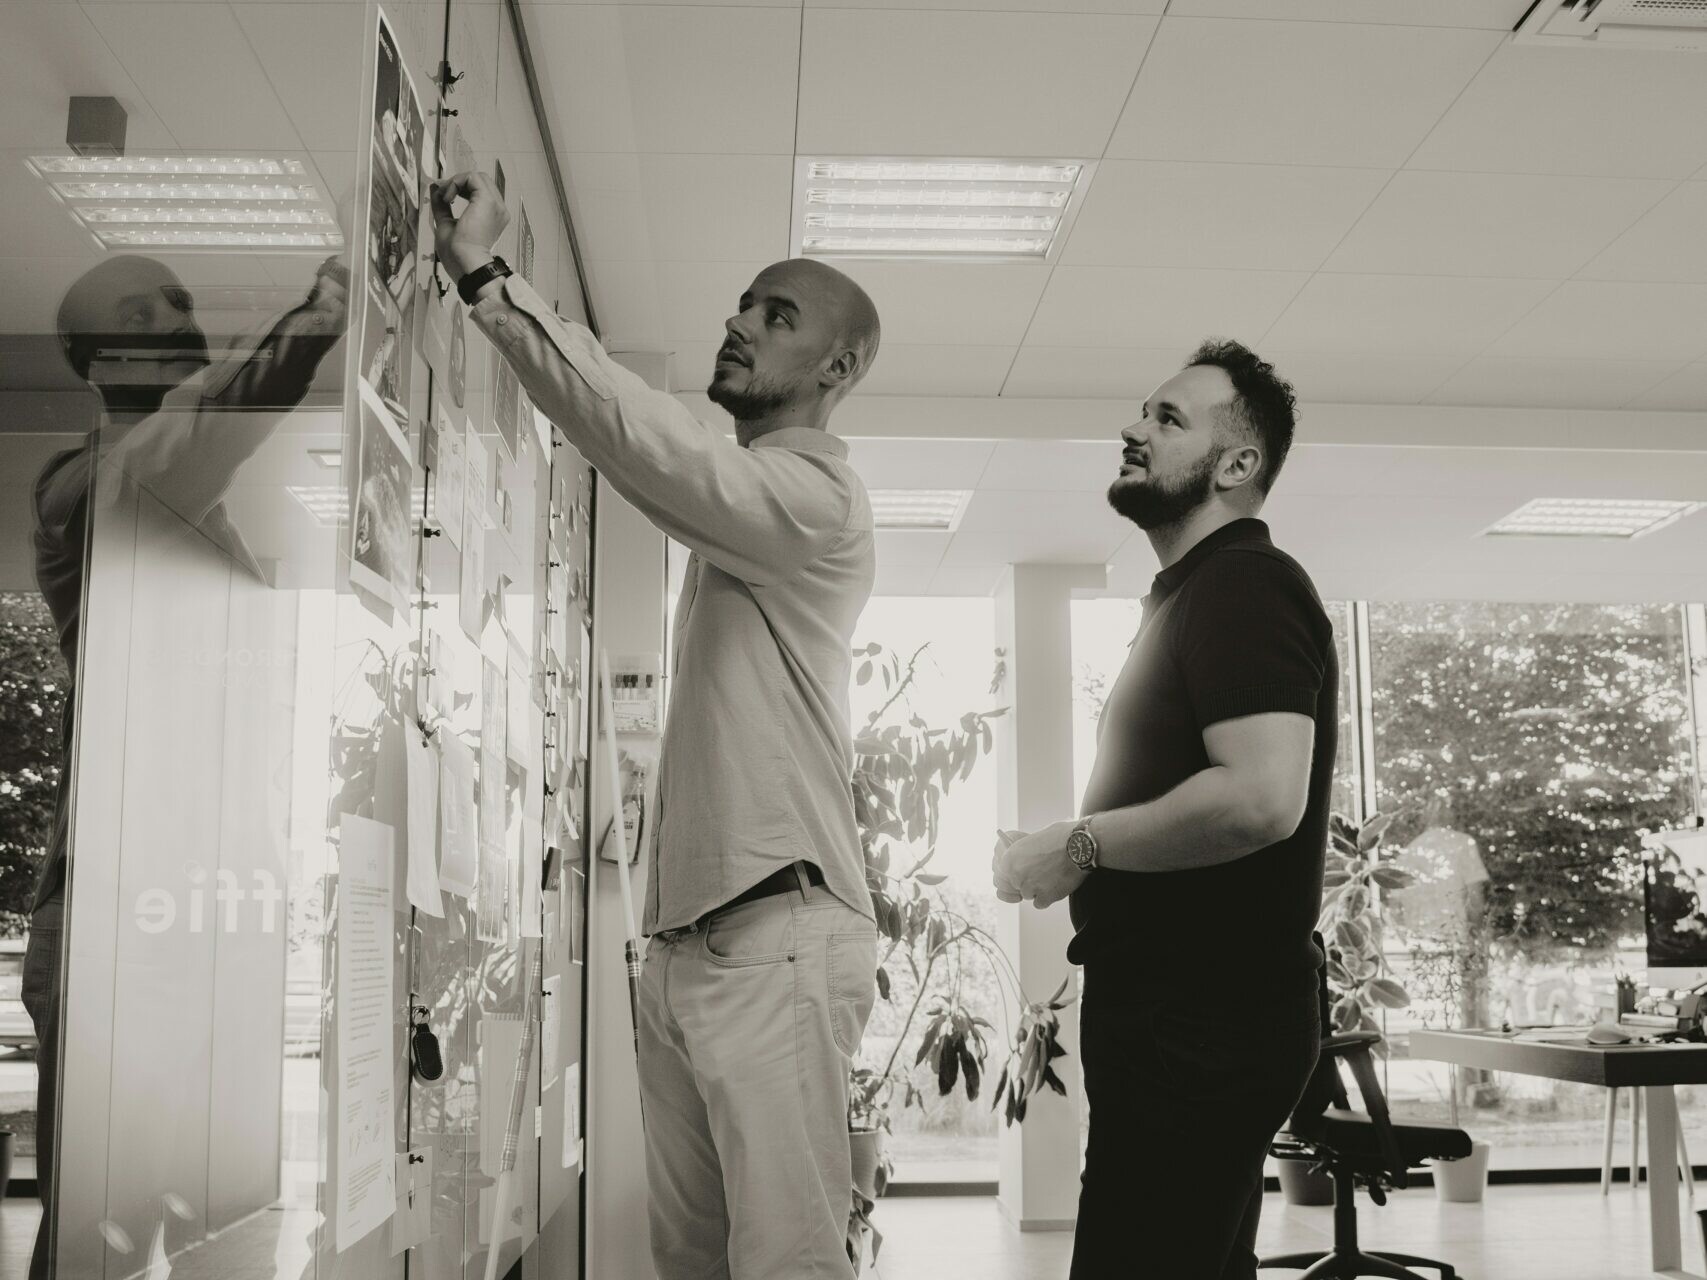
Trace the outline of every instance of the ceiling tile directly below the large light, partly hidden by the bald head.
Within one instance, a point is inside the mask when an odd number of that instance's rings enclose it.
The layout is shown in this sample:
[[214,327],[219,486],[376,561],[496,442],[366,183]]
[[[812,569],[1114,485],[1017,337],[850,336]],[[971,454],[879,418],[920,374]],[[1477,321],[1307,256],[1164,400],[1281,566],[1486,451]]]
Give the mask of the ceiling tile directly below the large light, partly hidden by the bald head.
[[[1014,263],[835,261],[877,305],[883,341],[920,346],[1019,346],[1050,278]],[[883,350],[877,352],[883,367]],[[876,370],[872,370],[876,375]]]

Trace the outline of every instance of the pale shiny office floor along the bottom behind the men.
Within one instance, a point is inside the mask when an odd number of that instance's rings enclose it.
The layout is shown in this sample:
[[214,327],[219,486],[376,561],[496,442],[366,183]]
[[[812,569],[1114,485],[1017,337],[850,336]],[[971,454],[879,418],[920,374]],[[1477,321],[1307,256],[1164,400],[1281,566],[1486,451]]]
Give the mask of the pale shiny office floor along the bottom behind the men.
[[[1704,1188],[1707,1191],[1707,1188]],[[1707,1196],[1697,1201],[1707,1208]],[[1326,1248],[1330,1208],[1297,1208],[1268,1196],[1261,1253]],[[1014,1231],[993,1200],[884,1200],[881,1280],[1063,1280],[1069,1232]],[[1364,1248],[1446,1258],[1465,1280],[1652,1280],[1647,1265],[1647,1190],[1593,1184],[1494,1186],[1480,1205],[1442,1205],[1429,1188],[1395,1195],[1384,1208],[1359,1203]],[[1133,1232],[1140,1231],[1135,1220]],[[1702,1271],[1700,1227],[1683,1212],[1683,1265]],[[1290,1280],[1299,1271],[1263,1271]],[[1430,1280],[1432,1271],[1424,1273]],[[1142,1280],[1135,1271],[1133,1280]],[[1157,1277],[1156,1280],[1166,1280]]]

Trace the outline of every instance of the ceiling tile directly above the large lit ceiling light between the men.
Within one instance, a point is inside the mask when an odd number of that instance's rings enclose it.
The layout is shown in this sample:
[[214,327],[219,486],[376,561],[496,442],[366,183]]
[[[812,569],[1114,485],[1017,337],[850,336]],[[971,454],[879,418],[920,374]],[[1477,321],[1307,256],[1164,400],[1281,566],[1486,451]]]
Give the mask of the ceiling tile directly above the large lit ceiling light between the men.
[[809,9],[797,150],[1101,155],[1154,29],[1099,14]]

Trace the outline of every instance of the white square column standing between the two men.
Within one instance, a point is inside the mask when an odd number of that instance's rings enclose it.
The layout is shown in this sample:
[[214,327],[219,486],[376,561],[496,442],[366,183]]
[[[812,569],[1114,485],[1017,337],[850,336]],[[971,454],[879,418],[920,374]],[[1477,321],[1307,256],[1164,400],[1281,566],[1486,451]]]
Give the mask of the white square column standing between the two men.
[[[1103,565],[1012,565],[995,591],[997,645],[1005,650],[1005,717],[997,720],[997,817],[1034,831],[1079,804],[1072,770],[1072,618],[1075,587],[1103,587]],[[1002,906],[997,937],[1026,995],[1045,1000],[1072,973],[1067,903],[1040,911]],[[1072,990],[1072,988],[1069,988]],[[1021,1231],[1069,1231],[1079,1210],[1079,1017],[1062,1015],[1067,1097],[1045,1091],[1021,1125],[1002,1130],[1000,1205]]]

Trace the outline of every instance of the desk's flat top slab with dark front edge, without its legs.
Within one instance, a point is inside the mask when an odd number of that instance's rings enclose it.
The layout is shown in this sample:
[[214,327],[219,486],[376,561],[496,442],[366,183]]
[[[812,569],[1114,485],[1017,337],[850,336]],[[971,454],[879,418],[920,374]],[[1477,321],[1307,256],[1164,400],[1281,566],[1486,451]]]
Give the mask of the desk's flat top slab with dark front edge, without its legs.
[[1410,1056],[1608,1087],[1707,1084],[1707,1044],[1548,1044],[1504,1031],[1412,1031]]

